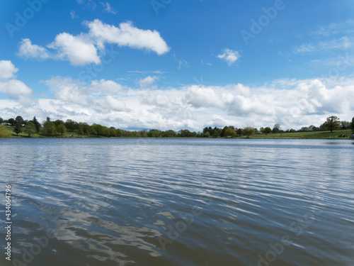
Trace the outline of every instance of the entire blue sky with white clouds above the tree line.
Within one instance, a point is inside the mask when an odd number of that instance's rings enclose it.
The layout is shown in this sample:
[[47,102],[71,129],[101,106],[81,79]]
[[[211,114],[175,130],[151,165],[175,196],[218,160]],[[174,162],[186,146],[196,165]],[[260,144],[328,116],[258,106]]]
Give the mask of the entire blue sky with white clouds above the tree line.
[[354,1],[0,2],[0,117],[139,130],[354,116]]

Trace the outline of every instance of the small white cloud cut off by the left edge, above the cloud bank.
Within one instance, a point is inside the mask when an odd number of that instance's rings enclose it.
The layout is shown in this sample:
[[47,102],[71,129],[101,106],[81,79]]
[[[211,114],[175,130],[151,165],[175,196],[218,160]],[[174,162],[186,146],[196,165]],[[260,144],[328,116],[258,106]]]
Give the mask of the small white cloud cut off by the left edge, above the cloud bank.
[[11,61],[0,60],[0,93],[20,96],[32,94],[32,89],[15,79],[18,68]]

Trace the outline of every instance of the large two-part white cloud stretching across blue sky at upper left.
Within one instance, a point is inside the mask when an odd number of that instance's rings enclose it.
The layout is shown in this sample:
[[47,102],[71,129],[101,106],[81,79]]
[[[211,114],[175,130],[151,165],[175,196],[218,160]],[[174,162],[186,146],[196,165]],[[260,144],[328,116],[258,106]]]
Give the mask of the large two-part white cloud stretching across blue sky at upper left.
[[103,54],[106,43],[145,49],[158,55],[170,49],[159,32],[136,28],[131,22],[120,23],[119,27],[115,27],[96,19],[85,21],[84,25],[89,27],[89,33],[59,33],[46,47],[33,45],[30,39],[25,38],[19,43],[18,56],[37,60],[67,60],[71,65],[84,66],[101,63],[98,49]]

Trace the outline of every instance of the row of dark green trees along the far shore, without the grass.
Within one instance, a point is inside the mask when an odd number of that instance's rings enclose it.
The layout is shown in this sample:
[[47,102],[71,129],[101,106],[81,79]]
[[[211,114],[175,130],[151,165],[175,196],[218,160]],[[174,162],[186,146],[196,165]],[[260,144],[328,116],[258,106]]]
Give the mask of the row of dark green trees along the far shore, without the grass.
[[[188,129],[181,129],[176,132],[173,130],[160,131],[158,129],[141,130],[141,131],[125,131],[120,128],[114,128],[107,126],[102,126],[100,124],[93,123],[91,126],[87,123],[76,122],[72,119],[67,119],[67,121],[55,120],[52,121],[50,117],[47,117],[46,121],[40,123],[37,118],[33,117],[32,120],[24,120],[22,116],[16,116],[16,118],[9,118],[4,120],[0,118],[1,128],[0,136],[6,136],[4,131],[4,126],[13,126],[13,132],[17,135],[19,133],[25,133],[30,137],[35,133],[40,135],[53,137],[53,136],[63,136],[64,133],[76,133],[80,136],[96,136],[96,137],[125,137],[125,138],[232,138],[244,136],[249,138],[254,134],[270,134],[270,133],[292,133],[292,132],[309,132],[309,131],[336,131],[339,129],[352,129],[354,133],[354,117],[351,122],[340,121],[337,116],[329,116],[321,126],[308,126],[302,127],[299,130],[293,128],[283,131],[280,128],[280,124],[276,123],[273,128],[261,127],[252,128],[236,128],[234,126],[224,126],[224,128],[217,127],[205,127],[202,132],[189,131]],[[9,134],[7,135],[9,136]]]

